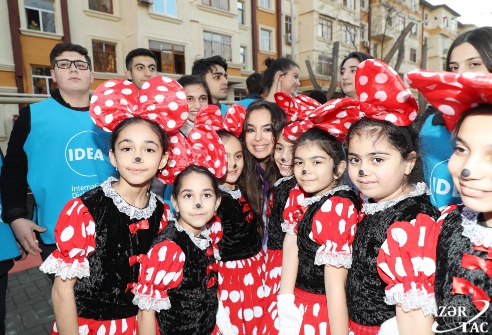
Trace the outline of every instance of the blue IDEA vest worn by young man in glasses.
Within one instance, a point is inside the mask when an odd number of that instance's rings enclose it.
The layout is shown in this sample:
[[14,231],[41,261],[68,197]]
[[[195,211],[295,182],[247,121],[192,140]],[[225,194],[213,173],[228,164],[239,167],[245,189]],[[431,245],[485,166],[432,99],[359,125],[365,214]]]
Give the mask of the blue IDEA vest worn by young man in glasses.
[[72,110],[53,98],[31,105],[24,151],[37,223],[47,228],[41,233],[44,243],[55,243],[55,225],[67,201],[114,174],[106,150],[109,136],[92,122],[89,111]]

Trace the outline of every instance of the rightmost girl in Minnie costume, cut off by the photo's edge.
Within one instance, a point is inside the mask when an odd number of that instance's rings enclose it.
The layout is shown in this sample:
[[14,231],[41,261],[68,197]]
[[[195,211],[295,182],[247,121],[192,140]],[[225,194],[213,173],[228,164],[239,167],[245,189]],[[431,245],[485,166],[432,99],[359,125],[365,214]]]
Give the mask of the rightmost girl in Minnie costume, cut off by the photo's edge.
[[492,318],[492,75],[415,70],[406,79],[454,134],[448,170],[463,204],[442,208],[437,221],[419,215],[391,225],[378,256],[386,302],[455,308],[461,312],[437,313],[432,331],[485,334]]

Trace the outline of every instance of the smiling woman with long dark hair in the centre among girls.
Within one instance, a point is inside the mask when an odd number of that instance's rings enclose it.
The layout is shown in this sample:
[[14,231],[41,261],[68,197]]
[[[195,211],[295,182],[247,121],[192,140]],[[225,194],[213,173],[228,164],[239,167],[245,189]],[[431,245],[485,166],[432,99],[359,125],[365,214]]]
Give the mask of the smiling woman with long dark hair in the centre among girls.
[[276,104],[255,101],[248,107],[240,136],[247,150],[244,151],[244,170],[238,184],[250,201],[264,250],[267,243],[266,220],[263,219],[266,203],[275,182],[281,177],[272,152],[286,123],[285,113]]

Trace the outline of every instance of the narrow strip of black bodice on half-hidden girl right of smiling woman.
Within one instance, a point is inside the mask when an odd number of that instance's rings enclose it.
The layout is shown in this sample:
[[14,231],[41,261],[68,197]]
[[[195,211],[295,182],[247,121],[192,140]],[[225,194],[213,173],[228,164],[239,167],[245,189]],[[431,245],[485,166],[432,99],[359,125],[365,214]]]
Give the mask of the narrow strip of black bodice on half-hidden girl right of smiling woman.
[[282,250],[284,244],[285,232],[282,231],[282,223],[284,222],[284,208],[289,198],[289,193],[296,186],[296,178],[291,178],[282,181],[273,191],[274,200],[272,214],[268,219],[268,241],[267,247],[270,250]]

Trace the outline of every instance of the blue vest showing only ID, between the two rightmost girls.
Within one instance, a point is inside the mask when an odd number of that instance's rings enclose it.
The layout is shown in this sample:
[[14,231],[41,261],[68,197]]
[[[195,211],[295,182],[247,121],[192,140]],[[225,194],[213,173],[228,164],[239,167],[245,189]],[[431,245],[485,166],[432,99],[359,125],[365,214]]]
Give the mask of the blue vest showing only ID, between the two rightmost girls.
[[430,115],[419,134],[420,155],[424,177],[430,189],[430,201],[440,208],[449,204],[461,203],[461,197],[447,170],[447,162],[453,153],[451,133],[446,127],[433,125]]

